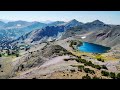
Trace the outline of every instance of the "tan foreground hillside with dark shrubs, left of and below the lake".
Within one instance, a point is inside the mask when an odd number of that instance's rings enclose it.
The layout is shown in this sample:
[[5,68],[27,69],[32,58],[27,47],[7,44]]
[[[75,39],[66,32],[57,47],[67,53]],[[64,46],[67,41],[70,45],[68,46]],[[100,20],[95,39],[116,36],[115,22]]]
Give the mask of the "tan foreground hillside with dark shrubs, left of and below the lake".
[[[111,79],[109,76],[102,75],[101,72],[115,72],[116,74],[119,72],[117,69],[119,65],[118,61],[102,62],[98,61],[94,54],[77,52],[69,47],[71,40],[74,39],[68,38],[56,42],[49,42],[44,44],[44,46],[43,44],[36,45],[36,49],[30,50],[29,58],[22,59],[24,61],[16,67],[15,74],[11,78],[82,79],[88,74],[91,78]],[[43,48],[39,48],[41,45]],[[81,57],[81,59],[78,57]],[[78,61],[78,59],[85,61]],[[91,64],[87,64],[86,62],[89,61],[93,63],[92,65],[97,66],[93,67]],[[102,65],[105,65],[107,69],[102,68]],[[99,66],[101,69],[99,69]],[[91,72],[87,72],[86,69],[91,70]]]

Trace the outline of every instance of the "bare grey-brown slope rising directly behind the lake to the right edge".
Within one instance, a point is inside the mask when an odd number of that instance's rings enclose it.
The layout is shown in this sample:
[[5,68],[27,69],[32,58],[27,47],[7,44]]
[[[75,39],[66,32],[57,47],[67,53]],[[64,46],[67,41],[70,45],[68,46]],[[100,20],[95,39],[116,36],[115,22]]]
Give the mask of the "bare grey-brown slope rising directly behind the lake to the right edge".
[[86,41],[113,47],[120,44],[120,26],[95,31],[85,38]]

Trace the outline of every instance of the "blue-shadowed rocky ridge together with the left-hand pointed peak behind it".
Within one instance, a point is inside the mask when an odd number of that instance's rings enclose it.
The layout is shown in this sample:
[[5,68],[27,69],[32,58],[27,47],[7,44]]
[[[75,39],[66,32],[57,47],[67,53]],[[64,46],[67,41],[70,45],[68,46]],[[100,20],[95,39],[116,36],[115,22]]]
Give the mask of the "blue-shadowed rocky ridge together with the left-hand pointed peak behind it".
[[34,43],[34,42],[45,42],[58,40],[62,37],[62,35],[66,32],[67,29],[70,29],[75,26],[82,25],[81,22],[73,19],[69,22],[56,21],[45,28],[33,30],[30,33],[26,34],[17,39],[17,42],[25,42],[25,43]]

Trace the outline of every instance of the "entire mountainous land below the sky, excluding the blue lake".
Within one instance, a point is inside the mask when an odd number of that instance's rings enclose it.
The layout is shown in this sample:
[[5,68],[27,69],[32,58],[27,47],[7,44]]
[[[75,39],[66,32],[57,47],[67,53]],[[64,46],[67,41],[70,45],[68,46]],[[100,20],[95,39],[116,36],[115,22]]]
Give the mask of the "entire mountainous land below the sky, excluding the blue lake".
[[[84,42],[107,46],[110,50],[87,53],[76,49]],[[0,78],[83,79],[86,76],[82,75],[88,74],[91,78],[97,75],[100,79],[111,79],[114,77],[108,76],[109,72],[120,75],[120,25],[100,20],[1,21],[0,49]],[[81,66],[84,68],[80,69]],[[108,75],[103,75],[103,71]]]

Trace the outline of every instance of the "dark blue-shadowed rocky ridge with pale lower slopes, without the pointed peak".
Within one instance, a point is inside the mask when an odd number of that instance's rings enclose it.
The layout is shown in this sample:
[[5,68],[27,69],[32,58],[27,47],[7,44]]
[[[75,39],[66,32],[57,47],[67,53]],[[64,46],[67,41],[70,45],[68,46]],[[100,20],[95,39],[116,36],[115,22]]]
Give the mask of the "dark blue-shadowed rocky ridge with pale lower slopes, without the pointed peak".
[[56,40],[60,37],[60,33],[64,32],[65,28],[64,26],[47,26],[43,29],[34,30],[25,36],[22,36],[18,38],[16,41],[23,41],[28,43],[34,43],[34,42],[46,42],[51,39]]

